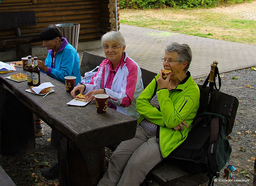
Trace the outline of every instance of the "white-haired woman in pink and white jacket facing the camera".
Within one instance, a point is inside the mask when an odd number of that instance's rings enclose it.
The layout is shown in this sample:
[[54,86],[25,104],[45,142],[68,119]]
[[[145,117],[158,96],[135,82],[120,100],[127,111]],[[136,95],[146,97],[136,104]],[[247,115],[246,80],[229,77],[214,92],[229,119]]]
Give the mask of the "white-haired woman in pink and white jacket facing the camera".
[[89,101],[96,94],[107,94],[108,107],[138,119],[136,99],[143,91],[139,65],[124,52],[125,40],[119,32],[104,34],[101,45],[107,59],[99,65],[91,82],[75,86],[71,95],[75,98],[75,92],[83,93]]

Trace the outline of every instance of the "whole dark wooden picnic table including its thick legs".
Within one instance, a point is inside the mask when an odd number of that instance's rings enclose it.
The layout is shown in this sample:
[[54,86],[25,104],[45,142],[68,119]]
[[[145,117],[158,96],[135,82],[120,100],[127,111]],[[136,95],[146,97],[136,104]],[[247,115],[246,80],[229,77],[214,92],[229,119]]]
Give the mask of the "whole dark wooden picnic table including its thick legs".
[[96,113],[95,103],[84,107],[69,106],[73,98],[65,85],[41,73],[41,83],[51,82],[54,92],[42,95],[26,92],[27,82],[4,77],[23,73],[0,74],[0,153],[23,156],[35,150],[36,113],[62,139],[58,142],[59,183],[61,186],[94,186],[105,170],[104,146],[133,138],[137,120],[107,109]]

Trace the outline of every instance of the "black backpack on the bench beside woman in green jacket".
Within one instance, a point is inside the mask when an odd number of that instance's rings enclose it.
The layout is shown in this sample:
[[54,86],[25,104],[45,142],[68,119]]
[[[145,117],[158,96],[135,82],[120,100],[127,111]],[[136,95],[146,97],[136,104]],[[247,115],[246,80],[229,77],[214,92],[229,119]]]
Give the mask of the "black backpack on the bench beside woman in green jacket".
[[167,160],[189,174],[208,173],[208,186],[213,185],[213,177],[220,176],[232,150],[226,138],[226,125],[222,115],[209,112],[197,115],[187,139]]

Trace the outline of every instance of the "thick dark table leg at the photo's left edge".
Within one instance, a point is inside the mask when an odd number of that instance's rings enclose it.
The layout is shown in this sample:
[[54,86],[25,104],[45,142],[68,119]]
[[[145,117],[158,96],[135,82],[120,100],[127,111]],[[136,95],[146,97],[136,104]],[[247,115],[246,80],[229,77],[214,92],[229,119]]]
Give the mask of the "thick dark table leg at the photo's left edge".
[[34,115],[17,98],[0,87],[0,153],[24,156],[36,148]]

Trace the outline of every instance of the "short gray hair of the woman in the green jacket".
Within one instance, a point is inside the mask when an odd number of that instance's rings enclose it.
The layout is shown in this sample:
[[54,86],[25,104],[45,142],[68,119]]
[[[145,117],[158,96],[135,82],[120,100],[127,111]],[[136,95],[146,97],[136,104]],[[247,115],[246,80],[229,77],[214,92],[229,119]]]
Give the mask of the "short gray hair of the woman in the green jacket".
[[[192,51],[190,47],[187,44],[178,44],[178,43],[169,43],[167,44],[165,48],[165,52],[177,52],[178,53],[178,59],[180,61],[187,61],[188,65],[184,68],[184,70],[187,72],[188,68],[190,66],[190,63],[192,61]],[[182,62],[179,62],[180,64]]]

